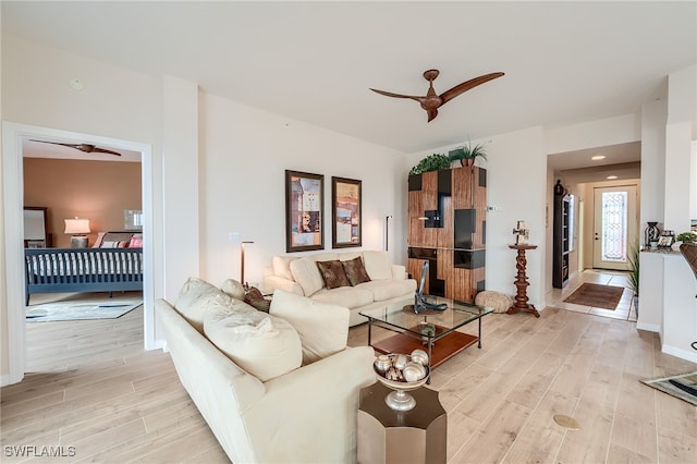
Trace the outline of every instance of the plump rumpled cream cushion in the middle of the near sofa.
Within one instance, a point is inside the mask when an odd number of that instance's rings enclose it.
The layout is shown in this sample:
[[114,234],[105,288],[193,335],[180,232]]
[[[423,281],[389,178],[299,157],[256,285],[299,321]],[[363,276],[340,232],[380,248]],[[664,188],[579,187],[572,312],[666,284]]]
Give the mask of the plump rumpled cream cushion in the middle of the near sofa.
[[[262,382],[301,367],[301,339],[290,322],[257,310],[211,305],[204,321],[208,340]],[[206,379],[201,379],[206,381]]]

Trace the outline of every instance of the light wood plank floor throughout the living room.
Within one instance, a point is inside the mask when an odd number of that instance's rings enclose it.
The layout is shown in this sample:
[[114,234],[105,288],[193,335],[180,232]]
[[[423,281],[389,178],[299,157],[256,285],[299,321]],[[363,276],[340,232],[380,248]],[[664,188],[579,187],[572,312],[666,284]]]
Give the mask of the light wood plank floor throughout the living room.
[[[169,355],[143,350],[142,317],[28,325],[30,373],[1,390],[2,462],[36,461],[8,454],[21,445],[74,450],[42,462],[228,462]],[[625,318],[487,316],[482,347],[432,373],[449,463],[695,463],[697,407],[638,380],[697,366]],[[351,330],[351,345],[366,342],[365,326]]]

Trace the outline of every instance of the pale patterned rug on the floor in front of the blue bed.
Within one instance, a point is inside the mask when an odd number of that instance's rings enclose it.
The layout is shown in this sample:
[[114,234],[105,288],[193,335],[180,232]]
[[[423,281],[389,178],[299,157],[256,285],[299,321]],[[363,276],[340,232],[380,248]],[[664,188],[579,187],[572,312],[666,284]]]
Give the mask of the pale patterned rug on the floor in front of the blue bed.
[[27,322],[115,319],[143,304],[143,300],[57,302],[26,308]]

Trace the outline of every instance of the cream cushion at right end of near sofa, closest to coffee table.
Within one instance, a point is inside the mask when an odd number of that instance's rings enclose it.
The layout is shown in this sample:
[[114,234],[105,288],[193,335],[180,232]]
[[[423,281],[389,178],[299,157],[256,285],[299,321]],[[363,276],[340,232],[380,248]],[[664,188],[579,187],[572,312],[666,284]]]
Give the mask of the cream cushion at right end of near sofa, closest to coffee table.
[[331,356],[346,347],[348,309],[277,290],[270,313],[295,328],[303,345],[303,364]]

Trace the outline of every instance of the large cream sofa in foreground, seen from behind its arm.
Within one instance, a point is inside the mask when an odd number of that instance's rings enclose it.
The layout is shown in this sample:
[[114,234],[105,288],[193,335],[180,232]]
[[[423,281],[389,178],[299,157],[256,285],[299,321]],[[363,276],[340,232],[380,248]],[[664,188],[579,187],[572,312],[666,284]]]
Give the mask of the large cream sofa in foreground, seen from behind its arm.
[[358,393],[375,382],[375,353],[346,347],[347,309],[278,291],[267,314],[211,288],[189,279],[175,305],[156,302],[156,315],[182,384],[231,461],[356,462]]

